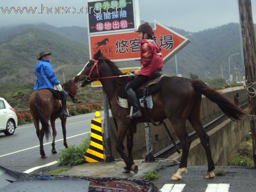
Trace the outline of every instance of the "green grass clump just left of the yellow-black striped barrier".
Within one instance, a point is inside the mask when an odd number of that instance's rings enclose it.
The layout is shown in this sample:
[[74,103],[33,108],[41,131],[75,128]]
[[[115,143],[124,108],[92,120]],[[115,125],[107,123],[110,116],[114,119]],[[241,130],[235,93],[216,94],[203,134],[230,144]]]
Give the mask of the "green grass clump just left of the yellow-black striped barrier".
[[74,166],[84,163],[84,154],[90,145],[90,136],[82,139],[82,143],[76,145],[68,144],[68,148],[62,149],[58,157],[58,166]]

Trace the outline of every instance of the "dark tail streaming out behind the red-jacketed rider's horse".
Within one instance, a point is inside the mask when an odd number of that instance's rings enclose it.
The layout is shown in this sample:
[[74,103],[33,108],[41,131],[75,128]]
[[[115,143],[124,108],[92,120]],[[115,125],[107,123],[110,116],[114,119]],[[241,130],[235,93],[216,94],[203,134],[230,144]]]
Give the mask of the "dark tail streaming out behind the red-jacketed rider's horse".
[[210,101],[216,103],[219,108],[233,121],[241,120],[244,116],[250,112],[242,110],[238,107],[233,101],[224,97],[222,94],[214,91],[209,86],[207,86],[201,80],[193,80],[191,81],[192,85],[196,90],[201,92],[202,95],[206,96]]

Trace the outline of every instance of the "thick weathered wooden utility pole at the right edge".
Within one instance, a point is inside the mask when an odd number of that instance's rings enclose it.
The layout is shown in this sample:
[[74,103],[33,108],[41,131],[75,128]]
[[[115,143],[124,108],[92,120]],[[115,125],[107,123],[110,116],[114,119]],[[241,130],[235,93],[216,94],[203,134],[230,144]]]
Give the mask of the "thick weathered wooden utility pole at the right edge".
[[[242,30],[242,42],[244,48],[245,78],[246,84],[256,89],[256,42],[254,23],[252,21],[251,0],[239,0],[239,14]],[[248,94],[250,112],[250,126],[252,137],[252,149],[254,167],[256,168],[256,97]]]

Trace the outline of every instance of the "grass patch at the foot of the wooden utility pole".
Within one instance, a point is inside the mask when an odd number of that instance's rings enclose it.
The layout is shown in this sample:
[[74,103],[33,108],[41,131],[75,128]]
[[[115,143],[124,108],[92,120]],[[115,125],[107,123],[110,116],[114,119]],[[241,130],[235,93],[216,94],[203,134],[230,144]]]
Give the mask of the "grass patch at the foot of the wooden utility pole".
[[235,166],[254,166],[252,154],[252,138],[246,135],[238,146],[236,156],[229,161],[229,165]]

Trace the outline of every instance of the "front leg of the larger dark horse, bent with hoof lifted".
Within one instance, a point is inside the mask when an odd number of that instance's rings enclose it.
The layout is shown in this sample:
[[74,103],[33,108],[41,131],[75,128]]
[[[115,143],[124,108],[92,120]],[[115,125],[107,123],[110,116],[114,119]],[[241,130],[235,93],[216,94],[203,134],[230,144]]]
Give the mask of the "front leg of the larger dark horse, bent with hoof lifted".
[[[130,171],[132,170],[132,165],[134,164],[132,159],[129,159],[128,156],[124,153],[124,148],[123,148],[123,140],[127,134],[127,129],[128,127],[132,127],[131,125],[123,125],[123,124],[119,124],[118,126],[118,139],[117,139],[117,144],[116,144],[116,149],[117,152],[121,155],[121,158],[124,160],[125,164],[126,164],[126,170]],[[135,167],[136,168],[136,167]],[[138,172],[138,166],[137,166],[137,170],[133,169],[133,171],[137,174]]]

